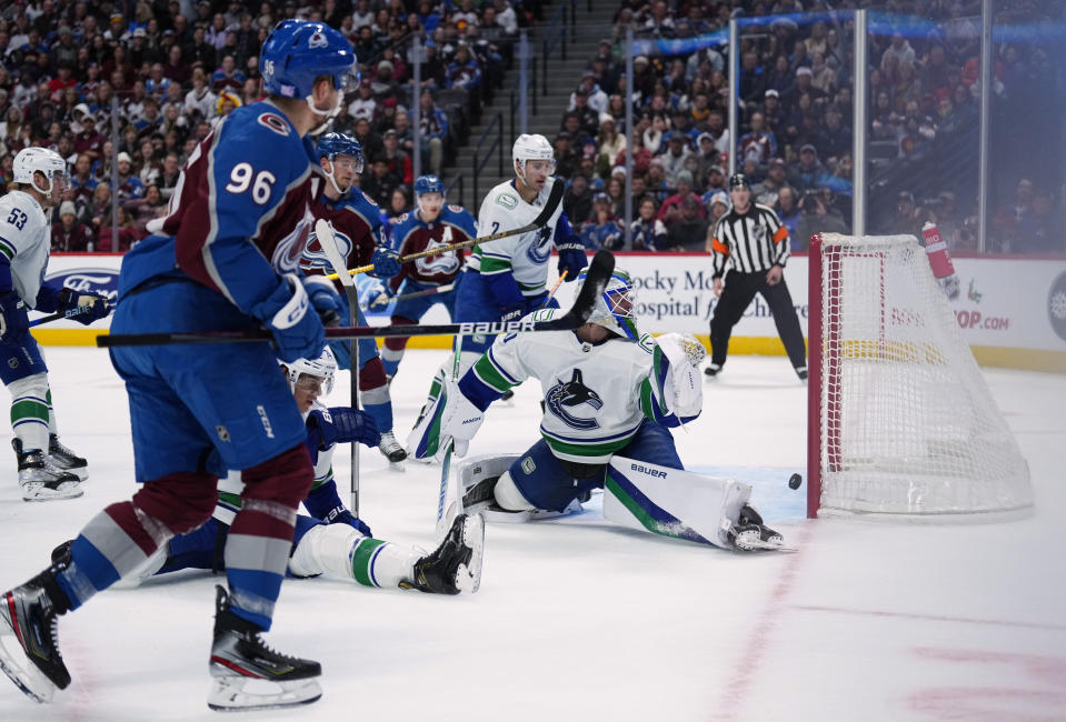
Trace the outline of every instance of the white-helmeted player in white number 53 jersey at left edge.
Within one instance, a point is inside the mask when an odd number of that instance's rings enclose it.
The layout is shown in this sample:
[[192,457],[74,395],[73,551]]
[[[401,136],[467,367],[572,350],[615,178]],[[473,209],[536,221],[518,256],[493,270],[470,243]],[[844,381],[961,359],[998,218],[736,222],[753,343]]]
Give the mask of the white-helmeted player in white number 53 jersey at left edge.
[[66,311],[81,323],[110,310],[99,295],[43,281],[51,248],[47,213],[69,185],[67,162],[54,151],[23,148],[12,171],[17,190],[0,199],[0,381],[11,393],[11,445],[23,500],[74,499],[83,493],[88,464],[59,443],[48,368],[30,335],[27,309]]

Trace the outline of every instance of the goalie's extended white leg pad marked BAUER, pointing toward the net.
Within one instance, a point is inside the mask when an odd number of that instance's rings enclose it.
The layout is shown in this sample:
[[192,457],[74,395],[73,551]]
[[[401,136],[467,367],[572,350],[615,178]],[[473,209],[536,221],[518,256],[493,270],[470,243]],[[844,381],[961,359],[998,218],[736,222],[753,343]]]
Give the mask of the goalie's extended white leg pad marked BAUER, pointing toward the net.
[[733,549],[727,532],[750,495],[751,487],[734,479],[616,455],[607,469],[604,517],[629,529]]

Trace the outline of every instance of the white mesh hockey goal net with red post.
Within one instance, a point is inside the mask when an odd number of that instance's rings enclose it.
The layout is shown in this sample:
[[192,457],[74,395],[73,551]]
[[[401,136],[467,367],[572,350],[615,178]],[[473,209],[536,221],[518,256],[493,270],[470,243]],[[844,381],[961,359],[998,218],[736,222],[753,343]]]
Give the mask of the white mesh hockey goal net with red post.
[[1025,459],[910,235],[810,239],[808,515],[1024,513]]

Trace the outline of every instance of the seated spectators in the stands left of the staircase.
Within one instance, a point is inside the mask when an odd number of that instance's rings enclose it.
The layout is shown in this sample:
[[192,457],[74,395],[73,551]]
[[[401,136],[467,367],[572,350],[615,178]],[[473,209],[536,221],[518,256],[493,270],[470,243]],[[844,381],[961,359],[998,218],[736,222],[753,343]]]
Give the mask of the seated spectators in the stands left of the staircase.
[[[58,151],[71,190],[54,211],[52,250],[128,250],[165,214],[196,144],[221,118],[259,99],[258,52],[267,33],[279,20],[301,18],[341,29],[356,49],[361,80],[333,129],[361,141],[362,188],[382,218],[395,220],[412,202],[412,153],[420,153],[422,172],[440,172],[501,83],[519,28],[540,16],[540,4],[13,0],[0,8],[0,181],[11,184],[22,148]],[[417,149],[415,38],[426,59]]]

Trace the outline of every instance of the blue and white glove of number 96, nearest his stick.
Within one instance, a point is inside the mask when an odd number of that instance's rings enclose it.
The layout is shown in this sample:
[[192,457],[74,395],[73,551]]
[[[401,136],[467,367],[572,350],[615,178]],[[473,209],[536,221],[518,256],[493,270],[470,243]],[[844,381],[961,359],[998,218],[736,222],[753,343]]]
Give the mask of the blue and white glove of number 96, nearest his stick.
[[326,348],[326,330],[311,311],[307,291],[296,273],[286,273],[278,288],[251,307],[251,314],[273,334],[282,361],[317,359]]

